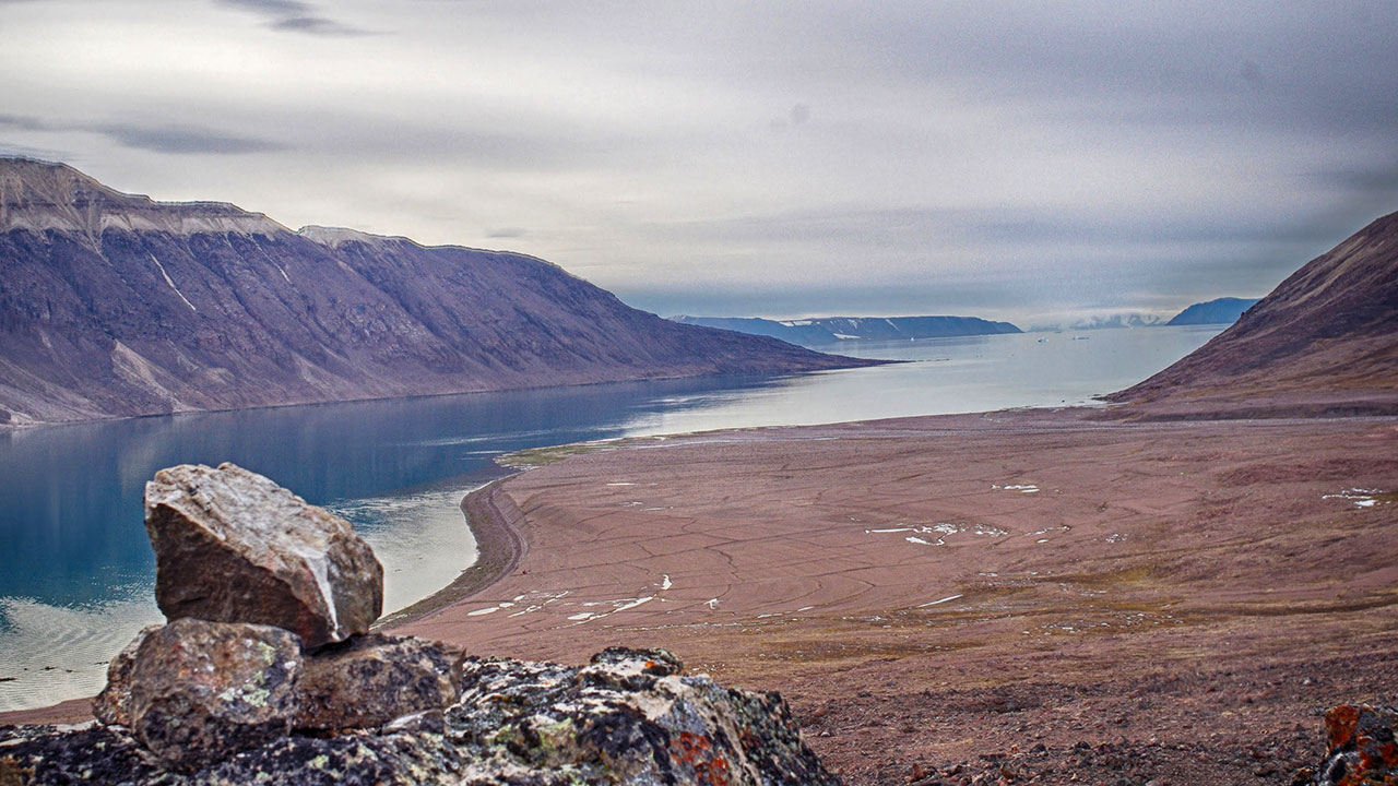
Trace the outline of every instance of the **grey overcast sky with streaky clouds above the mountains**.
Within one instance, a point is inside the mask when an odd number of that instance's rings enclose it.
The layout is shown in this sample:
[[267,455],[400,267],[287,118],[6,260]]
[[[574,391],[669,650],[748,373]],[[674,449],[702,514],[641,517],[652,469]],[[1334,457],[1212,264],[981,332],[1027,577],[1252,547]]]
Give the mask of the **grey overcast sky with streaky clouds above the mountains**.
[[0,152],[663,315],[1258,296],[1398,210],[1398,3],[0,0]]

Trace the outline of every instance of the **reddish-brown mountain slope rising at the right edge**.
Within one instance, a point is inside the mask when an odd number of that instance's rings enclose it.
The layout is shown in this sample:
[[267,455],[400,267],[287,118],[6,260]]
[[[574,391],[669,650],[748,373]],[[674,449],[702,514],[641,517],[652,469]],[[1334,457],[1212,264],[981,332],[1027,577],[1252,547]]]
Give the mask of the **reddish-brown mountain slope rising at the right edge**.
[[1232,327],[1106,396],[1123,417],[1398,413],[1398,213],[1309,262]]

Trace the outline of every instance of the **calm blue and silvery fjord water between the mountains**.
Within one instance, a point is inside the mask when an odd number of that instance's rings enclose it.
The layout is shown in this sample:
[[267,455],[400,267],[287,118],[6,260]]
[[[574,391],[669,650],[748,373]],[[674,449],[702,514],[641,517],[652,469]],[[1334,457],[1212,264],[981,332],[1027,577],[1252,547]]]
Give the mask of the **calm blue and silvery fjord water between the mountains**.
[[[1219,331],[1152,327],[829,351],[906,364],[358,401],[0,432],[0,710],[96,692],[105,662],[159,622],[144,484],[233,462],[354,522],[386,569],[386,610],[475,558],[459,503],[503,452],[713,428],[1090,404]],[[561,587],[566,589],[566,587]]]

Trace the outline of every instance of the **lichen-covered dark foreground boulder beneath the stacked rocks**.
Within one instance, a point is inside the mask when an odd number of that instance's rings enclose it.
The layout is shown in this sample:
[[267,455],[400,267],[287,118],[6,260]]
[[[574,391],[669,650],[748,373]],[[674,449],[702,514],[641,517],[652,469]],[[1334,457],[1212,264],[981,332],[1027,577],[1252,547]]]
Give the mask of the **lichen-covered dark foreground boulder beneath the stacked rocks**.
[[467,659],[461,699],[418,723],[291,734],[180,772],[119,726],[0,727],[0,783],[214,786],[835,786],[776,694],[685,676],[661,650],[584,667]]

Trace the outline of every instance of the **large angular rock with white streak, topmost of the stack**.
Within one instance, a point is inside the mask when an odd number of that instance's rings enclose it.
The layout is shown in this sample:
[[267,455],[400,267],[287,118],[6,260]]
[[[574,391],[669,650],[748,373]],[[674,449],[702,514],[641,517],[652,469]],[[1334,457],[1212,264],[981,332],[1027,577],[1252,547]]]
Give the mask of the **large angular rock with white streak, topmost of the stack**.
[[348,522],[235,464],[155,473],[145,531],[171,620],[277,625],[317,646],[383,611],[383,566]]

